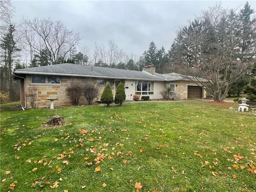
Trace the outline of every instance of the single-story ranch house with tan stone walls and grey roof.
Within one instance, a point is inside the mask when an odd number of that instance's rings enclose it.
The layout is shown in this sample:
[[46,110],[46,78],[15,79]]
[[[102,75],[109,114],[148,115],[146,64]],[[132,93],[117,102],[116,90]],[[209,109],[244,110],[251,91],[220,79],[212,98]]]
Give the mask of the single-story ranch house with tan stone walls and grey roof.
[[[67,97],[66,87],[72,77],[93,79],[100,87],[100,96],[106,86],[110,84],[113,96],[116,93],[118,83],[125,85],[126,100],[132,100],[134,94],[150,96],[150,99],[161,99],[161,91],[170,86],[175,92],[176,99],[198,99],[206,97],[206,92],[200,86],[181,74],[158,74],[153,65],[148,65],[142,71],[122,70],[78,64],[56,64],[16,70],[16,79],[20,79],[21,102],[25,108],[30,108],[28,102],[28,89],[31,86],[38,88],[39,107],[49,106],[46,98],[58,98],[55,106],[71,104]],[[84,96],[79,104],[86,104]]]

